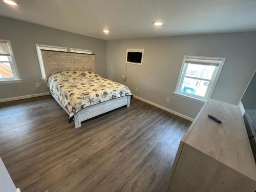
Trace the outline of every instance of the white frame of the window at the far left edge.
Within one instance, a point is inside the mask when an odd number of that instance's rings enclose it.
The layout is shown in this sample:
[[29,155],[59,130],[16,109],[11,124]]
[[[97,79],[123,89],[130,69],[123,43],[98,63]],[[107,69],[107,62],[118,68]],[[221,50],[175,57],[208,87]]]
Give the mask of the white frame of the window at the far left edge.
[[[12,70],[12,74],[13,77],[7,77],[7,78],[1,78],[0,77],[0,83],[12,83],[12,82],[20,82],[22,81],[22,79],[20,79],[19,73],[18,73],[18,68],[16,65],[16,61],[14,58],[14,54],[12,51],[12,46],[11,46],[11,41],[10,40],[5,40],[5,39],[0,39],[0,41],[6,41],[7,45],[8,45],[8,49],[10,52],[11,56],[8,56],[8,61],[0,61],[0,62],[9,62],[10,63],[10,67]],[[9,57],[11,58],[11,60],[9,59]]]

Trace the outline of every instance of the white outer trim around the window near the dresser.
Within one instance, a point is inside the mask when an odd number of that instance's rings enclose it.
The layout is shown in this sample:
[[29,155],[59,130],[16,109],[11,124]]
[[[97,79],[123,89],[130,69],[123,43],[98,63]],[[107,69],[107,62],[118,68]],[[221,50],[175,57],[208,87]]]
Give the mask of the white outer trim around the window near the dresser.
[[[219,65],[218,69],[216,69],[217,72],[216,72],[215,76],[213,77],[213,79],[210,79],[210,80],[207,79],[207,81],[209,81],[209,87],[210,87],[209,89],[210,90],[208,91],[208,93],[207,92],[205,93],[205,97],[200,97],[200,96],[196,96],[196,95],[193,95],[193,94],[185,94],[185,93],[181,93],[179,91],[180,86],[181,86],[181,78],[183,78],[185,76],[184,73],[186,72],[186,69],[184,69],[185,61],[188,58],[191,58],[191,59],[214,59],[214,60],[220,61],[220,65]],[[195,100],[206,101],[208,98],[211,97],[212,92],[215,89],[216,83],[217,83],[217,81],[219,79],[219,76],[220,76],[220,73],[221,73],[221,70],[223,68],[223,65],[224,65],[225,61],[226,61],[226,58],[224,58],[224,57],[201,57],[201,56],[185,55],[183,57],[182,66],[181,66],[179,78],[178,78],[178,81],[177,81],[177,84],[176,84],[176,89],[175,89],[174,93],[176,95],[183,96],[184,98],[189,98],[189,99],[193,98]]]

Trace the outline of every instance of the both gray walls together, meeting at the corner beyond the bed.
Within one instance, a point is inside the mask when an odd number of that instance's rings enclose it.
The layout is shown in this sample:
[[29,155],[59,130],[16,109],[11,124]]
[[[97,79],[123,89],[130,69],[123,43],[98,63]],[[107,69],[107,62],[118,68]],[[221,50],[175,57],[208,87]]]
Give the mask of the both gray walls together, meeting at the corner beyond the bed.
[[[1,16],[0,24],[0,39],[11,41],[23,79],[0,84],[0,99],[48,92],[46,81],[40,79],[35,44],[91,49],[96,54],[96,73],[126,84],[134,95],[193,118],[203,103],[173,95],[184,55],[226,57],[211,98],[233,104],[238,103],[256,67],[256,32],[105,41]],[[123,82],[127,48],[145,52],[143,66],[128,65]],[[170,102],[165,102],[166,97]]]

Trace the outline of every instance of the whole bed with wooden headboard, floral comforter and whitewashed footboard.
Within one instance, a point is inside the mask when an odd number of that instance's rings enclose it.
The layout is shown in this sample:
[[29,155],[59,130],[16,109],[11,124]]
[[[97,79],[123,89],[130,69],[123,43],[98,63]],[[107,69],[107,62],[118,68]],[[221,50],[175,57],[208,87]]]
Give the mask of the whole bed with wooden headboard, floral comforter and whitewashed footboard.
[[50,94],[75,127],[81,122],[126,105],[132,93],[123,84],[94,73],[94,55],[41,50]]

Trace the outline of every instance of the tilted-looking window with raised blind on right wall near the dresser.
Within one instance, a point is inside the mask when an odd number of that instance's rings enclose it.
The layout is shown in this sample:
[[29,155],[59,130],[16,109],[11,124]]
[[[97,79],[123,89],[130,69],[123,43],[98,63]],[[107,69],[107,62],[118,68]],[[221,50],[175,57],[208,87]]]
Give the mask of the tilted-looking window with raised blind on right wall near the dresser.
[[205,101],[211,96],[225,58],[184,56],[175,94]]

